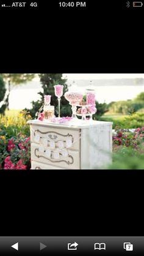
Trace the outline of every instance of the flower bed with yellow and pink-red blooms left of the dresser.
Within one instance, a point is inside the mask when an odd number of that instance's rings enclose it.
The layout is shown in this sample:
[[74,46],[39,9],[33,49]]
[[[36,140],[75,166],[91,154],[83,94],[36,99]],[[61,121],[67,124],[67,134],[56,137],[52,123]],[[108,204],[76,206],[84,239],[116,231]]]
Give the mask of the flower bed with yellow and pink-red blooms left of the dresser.
[[0,115],[0,169],[15,170],[31,167],[30,129],[27,119],[22,114]]

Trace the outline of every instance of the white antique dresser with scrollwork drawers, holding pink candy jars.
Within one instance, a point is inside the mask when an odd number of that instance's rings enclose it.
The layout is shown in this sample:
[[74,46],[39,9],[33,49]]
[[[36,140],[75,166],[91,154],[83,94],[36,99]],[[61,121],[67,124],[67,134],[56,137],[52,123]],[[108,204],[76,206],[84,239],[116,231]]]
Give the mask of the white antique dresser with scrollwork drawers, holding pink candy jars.
[[28,123],[32,170],[96,169],[106,167],[112,160],[112,122]]

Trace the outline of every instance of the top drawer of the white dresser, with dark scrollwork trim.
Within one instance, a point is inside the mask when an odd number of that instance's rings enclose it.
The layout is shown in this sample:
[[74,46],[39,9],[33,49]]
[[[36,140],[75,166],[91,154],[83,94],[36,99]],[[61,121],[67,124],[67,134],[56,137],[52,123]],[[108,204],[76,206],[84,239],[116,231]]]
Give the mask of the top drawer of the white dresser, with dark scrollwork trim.
[[[59,141],[63,141],[63,148],[80,149],[80,130],[65,129],[60,127],[45,127],[31,125],[31,142],[50,146],[54,142],[56,148],[59,148]],[[72,144],[71,144],[72,143]]]

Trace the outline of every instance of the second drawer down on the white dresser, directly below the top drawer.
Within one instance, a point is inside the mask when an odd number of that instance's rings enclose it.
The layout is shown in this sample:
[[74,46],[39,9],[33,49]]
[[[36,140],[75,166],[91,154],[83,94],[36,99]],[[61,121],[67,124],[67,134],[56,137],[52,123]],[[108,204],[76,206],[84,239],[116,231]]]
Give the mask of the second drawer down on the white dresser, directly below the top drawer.
[[80,168],[80,153],[79,151],[73,151],[67,149],[68,156],[62,156],[62,151],[59,151],[59,158],[54,156],[58,151],[51,151],[51,155],[48,156],[48,148],[40,146],[38,144],[31,144],[31,160],[40,162],[41,164],[52,165],[55,167],[79,169]]

